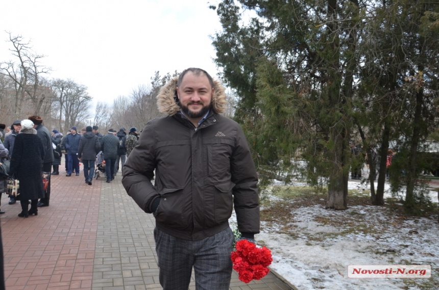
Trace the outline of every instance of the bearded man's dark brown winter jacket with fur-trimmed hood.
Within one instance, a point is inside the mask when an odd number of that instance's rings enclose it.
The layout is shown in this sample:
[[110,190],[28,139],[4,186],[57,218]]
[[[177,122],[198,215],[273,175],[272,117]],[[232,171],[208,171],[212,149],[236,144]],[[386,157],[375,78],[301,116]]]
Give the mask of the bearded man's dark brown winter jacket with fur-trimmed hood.
[[156,227],[184,240],[201,240],[229,227],[233,204],[239,231],[259,232],[258,178],[250,148],[241,127],[218,114],[226,109],[226,95],[219,82],[214,84],[212,110],[198,128],[180,113],[177,78],[164,86],[157,102],[168,116],[147,123],[124,166],[128,195],[146,213],[159,199]]

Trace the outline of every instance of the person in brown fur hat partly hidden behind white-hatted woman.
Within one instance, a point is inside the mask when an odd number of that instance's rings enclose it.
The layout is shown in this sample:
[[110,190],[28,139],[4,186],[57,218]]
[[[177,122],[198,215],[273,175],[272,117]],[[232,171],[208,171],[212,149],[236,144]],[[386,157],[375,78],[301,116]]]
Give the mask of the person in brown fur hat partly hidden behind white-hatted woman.
[[54,161],[54,151],[52,145],[52,135],[50,131],[43,125],[43,119],[40,116],[29,116],[29,120],[34,123],[34,129],[37,130],[37,135],[43,142],[43,150],[45,150],[43,161],[43,172],[47,172],[47,189],[43,192],[44,198],[38,202],[38,206],[48,206],[51,196],[51,171],[52,163]]

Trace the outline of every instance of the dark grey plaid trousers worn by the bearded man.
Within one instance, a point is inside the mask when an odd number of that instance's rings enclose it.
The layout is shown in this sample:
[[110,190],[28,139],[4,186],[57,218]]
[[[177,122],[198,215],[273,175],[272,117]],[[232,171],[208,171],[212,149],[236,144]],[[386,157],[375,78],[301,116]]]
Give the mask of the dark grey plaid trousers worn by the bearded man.
[[198,241],[178,239],[155,228],[154,240],[163,290],[187,290],[192,267],[197,290],[229,289],[234,240],[230,228]]

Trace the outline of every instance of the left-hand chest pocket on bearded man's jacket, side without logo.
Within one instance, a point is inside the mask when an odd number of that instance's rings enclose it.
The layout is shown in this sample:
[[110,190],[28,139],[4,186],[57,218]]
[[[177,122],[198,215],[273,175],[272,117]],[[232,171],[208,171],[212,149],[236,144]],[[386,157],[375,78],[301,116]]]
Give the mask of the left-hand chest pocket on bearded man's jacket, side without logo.
[[183,187],[191,166],[190,140],[158,142],[156,162],[165,188]]

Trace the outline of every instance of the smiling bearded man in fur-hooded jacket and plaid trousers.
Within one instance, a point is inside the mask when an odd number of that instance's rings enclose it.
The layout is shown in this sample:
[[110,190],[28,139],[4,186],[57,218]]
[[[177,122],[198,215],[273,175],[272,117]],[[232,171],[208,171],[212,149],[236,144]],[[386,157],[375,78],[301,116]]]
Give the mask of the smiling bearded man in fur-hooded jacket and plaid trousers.
[[156,219],[165,290],[187,289],[192,268],[197,289],[229,289],[233,204],[242,237],[259,233],[256,170],[241,127],[220,115],[224,90],[206,71],[184,70],[157,96],[168,116],[147,123],[125,163],[128,195]]

